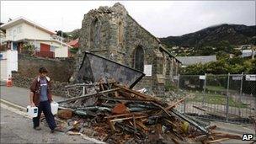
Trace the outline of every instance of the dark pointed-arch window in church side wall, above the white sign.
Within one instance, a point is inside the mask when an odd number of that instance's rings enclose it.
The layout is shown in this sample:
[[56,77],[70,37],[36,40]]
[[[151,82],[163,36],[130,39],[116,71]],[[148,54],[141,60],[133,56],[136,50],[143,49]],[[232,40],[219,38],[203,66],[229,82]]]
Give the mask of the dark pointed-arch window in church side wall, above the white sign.
[[144,70],[144,51],[141,46],[137,46],[134,52],[134,67],[136,70]]

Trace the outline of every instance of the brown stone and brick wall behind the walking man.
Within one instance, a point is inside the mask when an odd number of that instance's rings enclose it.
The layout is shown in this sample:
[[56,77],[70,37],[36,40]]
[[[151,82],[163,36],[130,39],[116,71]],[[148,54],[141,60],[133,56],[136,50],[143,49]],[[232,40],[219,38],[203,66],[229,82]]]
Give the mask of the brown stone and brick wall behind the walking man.
[[75,61],[72,58],[46,59],[19,54],[18,72],[12,72],[13,85],[29,88],[32,80],[38,76],[39,68],[46,67],[51,77],[52,94],[66,96],[65,86],[72,76]]

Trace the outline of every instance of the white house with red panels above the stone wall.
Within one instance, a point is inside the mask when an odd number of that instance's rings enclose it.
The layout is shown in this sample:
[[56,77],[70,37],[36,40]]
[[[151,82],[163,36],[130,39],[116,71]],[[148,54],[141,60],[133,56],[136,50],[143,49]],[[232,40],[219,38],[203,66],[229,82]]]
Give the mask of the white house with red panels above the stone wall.
[[23,51],[24,44],[35,45],[35,55],[42,57],[67,57],[72,46],[62,43],[55,32],[19,17],[0,26],[6,30],[5,42],[10,50]]

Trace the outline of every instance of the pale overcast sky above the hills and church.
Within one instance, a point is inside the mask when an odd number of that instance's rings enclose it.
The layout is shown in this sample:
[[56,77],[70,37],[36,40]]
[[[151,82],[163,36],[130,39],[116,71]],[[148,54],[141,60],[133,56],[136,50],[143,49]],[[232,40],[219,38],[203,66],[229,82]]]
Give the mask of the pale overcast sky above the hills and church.
[[[51,30],[80,29],[83,14],[118,1],[1,1],[1,22],[24,16]],[[255,1],[120,1],[157,37],[184,35],[215,24],[255,25]],[[61,20],[62,19],[62,20]],[[63,22],[63,23],[62,23]]]

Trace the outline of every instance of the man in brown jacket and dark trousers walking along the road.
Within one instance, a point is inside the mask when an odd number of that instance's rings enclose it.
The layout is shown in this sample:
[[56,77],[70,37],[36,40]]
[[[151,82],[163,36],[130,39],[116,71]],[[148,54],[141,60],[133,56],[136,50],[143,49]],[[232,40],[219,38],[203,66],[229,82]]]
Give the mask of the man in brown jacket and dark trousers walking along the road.
[[47,77],[48,70],[45,67],[40,67],[39,76],[35,77],[30,86],[30,105],[38,107],[38,115],[33,118],[34,129],[41,130],[40,115],[41,112],[45,115],[45,120],[49,125],[51,132],[55,131],[56,122],[51,113],[51,82],[50,77]]

